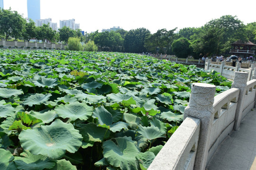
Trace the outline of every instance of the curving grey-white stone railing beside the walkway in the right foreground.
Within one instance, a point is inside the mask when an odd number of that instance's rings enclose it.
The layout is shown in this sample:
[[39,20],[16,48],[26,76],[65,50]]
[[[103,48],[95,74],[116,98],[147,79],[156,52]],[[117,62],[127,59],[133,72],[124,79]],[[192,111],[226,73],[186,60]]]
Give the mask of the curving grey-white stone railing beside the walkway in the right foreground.
[[183,123],[148,170],[205,170],[219,144],[255,106],[256,79],[247,82],[248,75],[236,71],[231,89],[216,96],[215,85],[194,83]]

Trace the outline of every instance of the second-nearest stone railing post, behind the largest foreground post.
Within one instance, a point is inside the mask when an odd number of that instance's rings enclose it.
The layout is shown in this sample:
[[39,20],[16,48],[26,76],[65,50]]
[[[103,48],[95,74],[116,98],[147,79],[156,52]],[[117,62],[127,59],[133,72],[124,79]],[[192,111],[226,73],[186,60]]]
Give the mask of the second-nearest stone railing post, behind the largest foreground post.
[[234,124],[234,130],[238,130],[240,127],[242,114],[243,114],[243,105],[246,95],[246,87],[247,87],[247,78],[248,73],[246,72],[235,72],[235,78],[233,80],[231,88],[238,88],[240,89],[239,97],[238,97],[238,106],[236,110],[236,118]]

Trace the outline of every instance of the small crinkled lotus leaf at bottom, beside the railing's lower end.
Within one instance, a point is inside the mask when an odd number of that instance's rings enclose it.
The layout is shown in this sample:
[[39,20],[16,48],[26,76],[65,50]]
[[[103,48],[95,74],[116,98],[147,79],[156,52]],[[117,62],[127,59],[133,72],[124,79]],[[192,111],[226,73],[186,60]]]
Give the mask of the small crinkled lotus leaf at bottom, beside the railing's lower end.
[[147,169],[155,159],[155,154],[149,151],[146,151],[145,153],[138,153],[136,155],[136,159],[144,168]]

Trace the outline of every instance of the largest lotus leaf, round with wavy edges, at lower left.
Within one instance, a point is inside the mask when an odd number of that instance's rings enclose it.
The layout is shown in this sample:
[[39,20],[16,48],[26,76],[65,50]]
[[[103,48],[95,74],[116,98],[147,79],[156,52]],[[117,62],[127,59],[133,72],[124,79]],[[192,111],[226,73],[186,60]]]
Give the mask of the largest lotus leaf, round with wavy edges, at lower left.
[[71,123],[56,119],[49,126],[22,130],[18,136],[21,146],[33,154],[61,158],[66,150],[74,153],[82,145],[82,135]]

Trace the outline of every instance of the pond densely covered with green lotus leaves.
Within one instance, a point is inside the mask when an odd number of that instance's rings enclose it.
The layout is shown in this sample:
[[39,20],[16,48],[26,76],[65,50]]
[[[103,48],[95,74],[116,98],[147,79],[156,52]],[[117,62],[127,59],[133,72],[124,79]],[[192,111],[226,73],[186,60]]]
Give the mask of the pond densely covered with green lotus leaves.
[[231,86],[138,54],[0,50],[0,170],[146,170],[194,82]]

